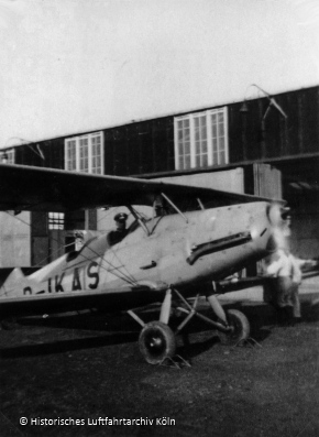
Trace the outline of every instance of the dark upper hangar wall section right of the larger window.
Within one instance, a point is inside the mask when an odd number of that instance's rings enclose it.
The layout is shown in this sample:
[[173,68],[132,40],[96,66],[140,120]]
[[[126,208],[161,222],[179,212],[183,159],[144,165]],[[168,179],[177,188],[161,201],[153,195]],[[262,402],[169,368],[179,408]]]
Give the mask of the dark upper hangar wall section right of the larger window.
[[[319,87],[275,96],[285,119],[267,98],[229,106],[230,162],[267,160],[317,153],[319,143]],[[264,129],[263,129],[264,128]]]

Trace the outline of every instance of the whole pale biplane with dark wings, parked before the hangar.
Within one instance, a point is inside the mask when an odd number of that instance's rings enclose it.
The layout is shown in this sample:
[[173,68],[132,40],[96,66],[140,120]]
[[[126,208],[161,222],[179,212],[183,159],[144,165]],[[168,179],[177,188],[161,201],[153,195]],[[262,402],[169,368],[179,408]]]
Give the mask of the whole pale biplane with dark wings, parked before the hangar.
[[[175,183],[9,164],[0,164],[0,186],[1,210],[124,206],[131,218],[121,236],[110,231],[88,239],[79,251],[31,275],[14,269],[0,288],[1,317],[125,308],[142,326],[140,350],[152,364],[175,353],[176,332],[168,326],[175,301],[186,314],[177,332],[197,315],[229,341],[248,338],[246,317],[234,309],[226,313],[212,284],[275,250],[283,203]],[[152,216],[139,212],[139,205],[151,206]],[[212,318],[197,312],[204,293]],[[158,320],[144,324],[132,308],[152,302],[161,302]]]

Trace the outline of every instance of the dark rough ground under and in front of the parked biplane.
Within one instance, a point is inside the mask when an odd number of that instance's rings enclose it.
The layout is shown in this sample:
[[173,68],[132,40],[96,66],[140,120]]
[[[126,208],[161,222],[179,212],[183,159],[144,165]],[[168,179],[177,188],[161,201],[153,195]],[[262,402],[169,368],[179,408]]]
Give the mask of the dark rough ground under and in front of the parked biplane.
[[277,326],[266,305],[242,310],[254,347],[222,346],[191,321],[182,369],[146,364],[124,314],[2,329],[1,436],[319,436],[318,314],[304,303],[302,323]]

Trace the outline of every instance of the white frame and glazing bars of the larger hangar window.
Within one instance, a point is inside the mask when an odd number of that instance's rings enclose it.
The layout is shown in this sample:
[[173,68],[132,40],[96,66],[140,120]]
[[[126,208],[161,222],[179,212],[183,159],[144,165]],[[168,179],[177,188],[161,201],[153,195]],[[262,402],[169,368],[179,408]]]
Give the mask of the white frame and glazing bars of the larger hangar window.
[[[220,128],[220,123],[218,119],[222,114],[223,122],[222,128]],[[202,120],[205,117],[206,121],[206,132],[202,131]],[[217,136],[212,133],[212,128],[215,123],[212,122],[212,118],[217,119]],[[198,128],[196,123],[198,120]],[[182,130],[179,128],[179,122],[183,124],[188,124],[188,128],[183,127]],[[183,141],[180,143],[180,139],[183,138],[184,129],[189,129],[189,140]],[[222,129],[223,132],[220,132]],[[180,136],[182,131],[182,136]],[[223,133],[223,134],[221,134]],[[213,146],[213,138],[216,138],[216,146],[217,151],[215,151]],[[223,139],[223,144],[221,144],[221,139]],[[206,151],[204,150],[204,145],[206,142]],[[185,148],[189,143],[189,153],[185,153]],[[196,148],[196,144],[199,146],[199,152]],[[183,154],[180,154],[180,149],[183,149]],[[205,111],[198,111],[194,113],[187,113],[180,117],[174,118],[174,151],[175,151],[175,170],[189,170],[189,168],[205,168],[206,166],[219,166],[229,163],[229,134],[228,134],[228,107],[221,107],[216,109],[208,109]],[[222,162],[222,152],[224,152],[224,160]],[[205,154],[207,154],[207,159],[205,159]],[[190,160],[188,159],[189,166],[187,166],[187,156],[190,155]],[[217,162],[215,160],[215,155],[217,155]],[[199,161],[199,165],[198,165]],[[186,165],[185,165],[186,164]]]

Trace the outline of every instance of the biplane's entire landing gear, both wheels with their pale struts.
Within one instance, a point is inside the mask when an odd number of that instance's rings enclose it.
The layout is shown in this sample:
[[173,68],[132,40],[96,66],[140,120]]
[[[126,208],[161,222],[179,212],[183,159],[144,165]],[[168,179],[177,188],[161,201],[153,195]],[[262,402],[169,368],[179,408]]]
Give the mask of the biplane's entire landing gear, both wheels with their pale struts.
[[178,334],[194,316],[197,316],[209,323],[219,331],[219,337],[223,343],[238,345],[249,338],[250,324],[248,318],[237,309],[230,309],[226,314],[215,295],[209,296],[208,302],[210,303],[213,313],[221,321],[215,321],[196,310],[199,295],[196,296],[193,305],[190,305],[177,289],[168,288],[161,307],[158,321],[144,324],[144,321],[132,310],[128,312],[130,316],[142,326],[139,346],[142,356],[150,364],[161,364],[166,358],[173,358],[175,356],[176,338],[173,330],[168,327],[172,307],[172,291],[186,306],[186,308],[177,307],[177,309],[187,314],[182,324],[176,328],[175,334]]

